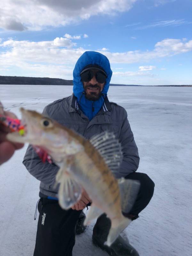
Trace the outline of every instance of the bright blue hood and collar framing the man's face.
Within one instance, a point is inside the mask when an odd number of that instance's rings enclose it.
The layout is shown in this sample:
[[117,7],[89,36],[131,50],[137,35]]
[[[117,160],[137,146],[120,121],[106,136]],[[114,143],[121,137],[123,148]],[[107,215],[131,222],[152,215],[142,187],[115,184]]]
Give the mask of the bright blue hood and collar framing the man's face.
[[[80,73],[87,65],[98,65],[103,68],[107,74],[105,86],[102,90],[103,97],[99,100],[91,101],[85,98],[83,94],[84,88],[81,81]],[[91,120],[100,110],[103,105],[104,98],[107,96],[109,83],[112,76],[112,70],[108,58],[99,52],[84,52],[83,55],[77,60],[73,70],[73,93],[77,98],[79,107],[84,114]]]

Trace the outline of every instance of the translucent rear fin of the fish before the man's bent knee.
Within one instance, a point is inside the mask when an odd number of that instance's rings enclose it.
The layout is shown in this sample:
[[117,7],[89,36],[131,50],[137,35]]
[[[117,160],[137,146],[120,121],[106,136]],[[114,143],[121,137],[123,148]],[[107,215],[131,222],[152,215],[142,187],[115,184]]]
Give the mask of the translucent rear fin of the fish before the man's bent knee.
[[118,179],[118,185],[122,212],[129,213],[139,192],[140,182],[138,180],[121,178]]

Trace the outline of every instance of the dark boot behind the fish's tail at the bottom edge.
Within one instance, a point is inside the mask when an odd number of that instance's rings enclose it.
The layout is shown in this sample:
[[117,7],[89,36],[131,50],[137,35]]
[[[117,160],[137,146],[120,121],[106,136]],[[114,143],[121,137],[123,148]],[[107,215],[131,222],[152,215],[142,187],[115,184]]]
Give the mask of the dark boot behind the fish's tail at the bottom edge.
[[104,245],[107,241],[109,229],[111,227],[111,220],[107,218],[106,214],[102,214],[93,228],[92,241],[97,247],[108,252],[111,256],[139,256],[139,253],[125,241],[122,236],[118,236],[117,239],[110,247]]

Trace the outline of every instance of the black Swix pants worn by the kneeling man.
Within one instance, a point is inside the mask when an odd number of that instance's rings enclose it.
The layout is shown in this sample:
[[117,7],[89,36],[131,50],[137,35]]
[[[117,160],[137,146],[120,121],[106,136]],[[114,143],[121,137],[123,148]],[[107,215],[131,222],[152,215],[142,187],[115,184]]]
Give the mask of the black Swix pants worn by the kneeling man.
[[[139,180],[140,190],[130,214],[138,216],[151,200],[154,182],[145,173],[133,172],[126,179]],[[40,198],[34,256],[72,256],[75,226],[81,211],[61,209],[57,200]]]

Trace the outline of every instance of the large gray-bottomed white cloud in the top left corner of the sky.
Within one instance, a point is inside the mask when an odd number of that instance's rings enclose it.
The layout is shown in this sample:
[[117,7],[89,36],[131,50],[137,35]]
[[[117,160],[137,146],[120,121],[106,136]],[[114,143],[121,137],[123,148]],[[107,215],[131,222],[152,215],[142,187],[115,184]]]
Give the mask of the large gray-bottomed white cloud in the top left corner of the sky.
[[138,0],[6,0],[0,1],[0,27],[23,31],[65,26],[90,16],[125,12]]

